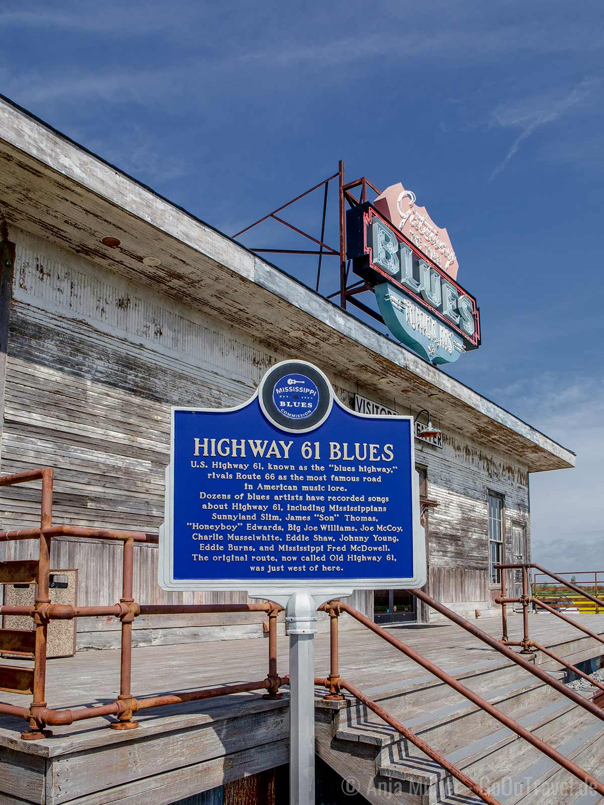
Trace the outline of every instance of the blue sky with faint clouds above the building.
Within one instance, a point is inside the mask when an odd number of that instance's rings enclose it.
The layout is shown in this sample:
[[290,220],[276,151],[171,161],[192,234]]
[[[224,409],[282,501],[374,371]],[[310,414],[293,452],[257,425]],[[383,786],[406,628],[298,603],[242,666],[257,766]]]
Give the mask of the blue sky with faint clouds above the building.
[[338,159],[416,192],[481,307],[481,349],[447,371],[579,454],[532,476],[536,559],[573,570],[603,543],[603,20],[598,0],[9,0],[0,87],[226,233]]

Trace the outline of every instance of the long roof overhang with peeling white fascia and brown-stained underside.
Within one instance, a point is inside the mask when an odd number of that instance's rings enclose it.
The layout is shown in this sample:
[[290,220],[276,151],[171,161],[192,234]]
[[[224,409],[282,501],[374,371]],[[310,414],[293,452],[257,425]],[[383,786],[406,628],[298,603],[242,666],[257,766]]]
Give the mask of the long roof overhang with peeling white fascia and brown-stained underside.
[[[145,187],[0,99],[0,213],[11,225],[209,312],[279,352],[332,366],[384,398],[438,393],[430,410],[529,472],[573,452]],[[101,244],[107,235],[122,246]],[[143,263],[153,254],[154,268]],[[287,321],[287,328],[283,322]],[[292,332],[304,332],[304,340]]]

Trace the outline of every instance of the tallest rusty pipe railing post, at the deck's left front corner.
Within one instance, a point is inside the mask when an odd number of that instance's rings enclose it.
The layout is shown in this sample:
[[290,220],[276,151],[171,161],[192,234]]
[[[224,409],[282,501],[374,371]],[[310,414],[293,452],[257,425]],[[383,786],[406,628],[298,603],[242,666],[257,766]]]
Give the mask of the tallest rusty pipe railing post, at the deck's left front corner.
[[40,738],[52,735],[50,729],[44,729],[43,720],[39,717],[46,708],[46,648],[48,638],[48,617],[44,609],[50,604],[50,551],[51,538],[44,534],[44,529],[52,526],[52,469],[42,471],[42,503],[40,506],[40,532],[38,551],[38,576],[35,588],[35,645],[34,645],[34,690],[30,707],[29,729],[21,733],[25,741],[39,741]]

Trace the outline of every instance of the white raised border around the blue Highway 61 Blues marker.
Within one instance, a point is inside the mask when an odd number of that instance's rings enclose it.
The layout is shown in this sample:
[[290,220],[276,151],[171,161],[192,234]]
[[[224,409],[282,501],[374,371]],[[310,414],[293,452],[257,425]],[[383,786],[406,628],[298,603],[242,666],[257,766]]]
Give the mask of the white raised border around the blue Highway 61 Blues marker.
[[[311,366],[312,369],[321,372],[315,365],[308,363],[308,361],[298,361],[295,359],[289,361],[280,361],[279,364],[271,366],[267,373],[274,371],[279,365],[297,363]],[[321,372],[321,374],[323,374]],[[266,376],[266,375],[265,375]],[[325,377],[325,375],[324,375]],[[221,579],[221,580],[200,580],[200,579],[178,579],[175,580],[172,575],[173,568],[173,548],[174,538],[172,532],[172,521],[174,510],[172,506],[172,493],[174,489],[174,415],[176,411],[195,411],[205,413],[230,413],[232,411],[241,411],[242,408],[254,403],[259,396],[259,390],[263,386],[263,380],[260,382],[259,389],[238,406],[230,408],[192,408],[188,406],[174,406],[170,413],[170,464],[166,468],[166,493],[165,493],[165,506],[164,506],[164,522],[159,528],[159,563],[158,563],[158,582],[159,587],[163,590],[180,591],[180,592],[220,592],[221,590],[232,590],[235,592],[248,592],[252,598],[267,598],[274,600],[275,597],[287,597],[294,592],[304,590],[312,596],[326,595],[329,597],[338,597],[350,595],[352,590],[379,590],[379,589],[416,589],[423,587],[426,583],[427,568],[426,568],[426,551],[425,551],[425,535],[424,528],[420,524],[420,485],[419,481],[415,483],[416,479],[416,463],[415,463],[415,445],[414,434],[415,428],[413,417],[408,415],[371,415],[361,414],[358,411],[353,411],[350,407],[341,403],[336,394],[333,394],[333,386],[327,378],[329,389],[332,391],[333,402],[341,407],[347,414],[358,416],[359,419],[403,419],[409,423],[409,448],[410,448],[410,463],[412,472],[412,522],[413,522],[413,568],[416,571],[412,579],[400,578],[383,578],[383,579],[341,579],[330,578],[321,579],[308,579],[308,576],[302,580],[300,576],[292,579],[289,583],[283,584],[283,580],[274,580],[271,584],[266,579],[250,580],[250,579]],[[331,406],[329,407],[331,411]],[[271,423],[274,425],[272,419]],[[325,418],[317,423],[319,427]],[[285,431],[284,428],[279,426],[279,430]],[[308,431],[296,431],[296,433],[304,433]]]

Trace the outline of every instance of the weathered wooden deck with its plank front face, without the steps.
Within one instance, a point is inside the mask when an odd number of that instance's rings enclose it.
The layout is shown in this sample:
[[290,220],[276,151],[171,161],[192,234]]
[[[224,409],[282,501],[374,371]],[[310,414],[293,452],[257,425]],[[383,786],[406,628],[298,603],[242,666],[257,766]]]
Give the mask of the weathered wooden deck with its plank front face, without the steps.
[[[575,620],[604,634],[604,615],[579,615]],[[532,615],[530,624],[532,639],[544,646],[564,646],[561,653],[573,655],[574,651],[577,661],[589,652],[589,656],[604,654],[604,646],[585,638],[552,615]],[[478,625],[500,637],[499,618],[484,619],[478,621]],[[522,619],[510,616],[509,627],[511,640],[519,639]],[[501,654],[454,625],[401,625],[391,629],[409,646],[453,675],[509,664]],[[575,642],[581,646],[581,651],[569,650]],[[268,642],[262,639],[134,649],[132,690],[134,696],[142,697],[263,679],[267,673],[267,650]],[[15,660],[2,662],[19,663]],[[22,663],[23,666],[31,664]],[[362,627],[341,633],[340,666],[341,675],[368,696],[379,699],[433,679]],[[287,671],[288,638],[279,638],[279,673],[283,675]],[[329,636],[319,634],[316,636],[316,675],[327,673]],[[73,658],[48,661],[49,707],[104,704],[116,698],[118,687],[119,652],[116,650],[79,652]],[[317,691],[317,695],[322,696],[322,692]],[[27,703],[26,696],[12,694],[2,694],[2,700],[10,704]],[[166,779],[163,787],[160,786],[162,795],[154,793],[154,802],[169,803],[200,791],[201,765],[205,774],[204,788],[209,788],[242,776],[242,767],[246,773],[252,773],[288,759],[287,696],[283,700],[268,701],[256,694],[239,694],[146,710],[137,716],[139,729],[126,732],[107,729],[110,720],[97,718],[55,727],[53,737],[27,742],[19,737],[25,722],[2,717],[0,748],[4,754],[0,756],[0,805],[19,802],[23,797],[27,802],[73,802],[77,805],[101,805],[108,801],[144,803],[145,798],[148,802],[151,791],[149,780],[158,776],[160,766],[159,777]],[[110,782],[98,782],[96,772],[91,772],[91,762],[99,773],[105,770]],[[194,773],[196,764],[199,769]],[[185,767],[187,774],[183,772]],[[132,782],[133,778],[138,782]],[[101,785],[116,786],[113,799],[103,799]],[[156,785],[158,783],[154,782],[153,786]],[[171,785],[174,787],[170,788]],[[155,792],[155,787],[152,790]]]

